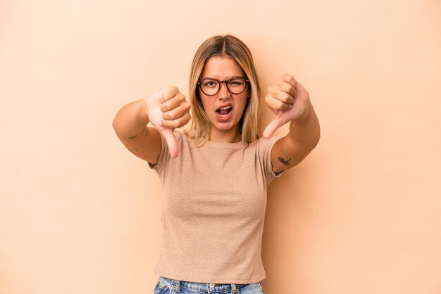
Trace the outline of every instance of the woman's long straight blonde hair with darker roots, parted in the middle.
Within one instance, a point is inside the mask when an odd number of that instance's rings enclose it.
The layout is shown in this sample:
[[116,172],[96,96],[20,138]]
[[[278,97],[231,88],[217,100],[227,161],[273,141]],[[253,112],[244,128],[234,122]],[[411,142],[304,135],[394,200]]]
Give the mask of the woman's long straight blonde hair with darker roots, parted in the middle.
[[226,34],[211,37],[199,46],[194,54],[192,68],[190,70],[190,105],[192,107],[192,127],[186,134],[194,139],[197,145],[203,145],[209,140],[211,123],[206,116],[204,106],[202,106],[201,98],[197,82],[201,77],[202,70],[206,60],[212,56],[229,56],[240,65],[249,79],[248,100],[244,113],[239,122],[239,131],[242,141],[252,143],[259,139],[258,132],[258,113],[260,105],[261,88],[259,77],[254,68],[253,57],[247,45],[240,39]]

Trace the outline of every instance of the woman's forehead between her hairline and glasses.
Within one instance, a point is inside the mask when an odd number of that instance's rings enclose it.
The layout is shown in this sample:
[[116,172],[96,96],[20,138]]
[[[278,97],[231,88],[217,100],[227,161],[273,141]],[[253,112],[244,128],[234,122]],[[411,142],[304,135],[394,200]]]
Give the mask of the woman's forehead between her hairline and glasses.
[[211,56],[206,60],[202,70],[202,78],[228,79],[242,75],[244,75],[244,71],[230,56]]

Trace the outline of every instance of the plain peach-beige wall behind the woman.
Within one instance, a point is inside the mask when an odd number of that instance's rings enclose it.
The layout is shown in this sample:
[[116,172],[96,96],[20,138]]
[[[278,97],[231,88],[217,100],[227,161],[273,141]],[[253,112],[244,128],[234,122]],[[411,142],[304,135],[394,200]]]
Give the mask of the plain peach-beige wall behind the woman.
[[356,2],[1,0],[0,293],[153,292],[161,186],[111,122],[228,32],[321,121],[269,189],[266,294],[441,293],[441,3]]

